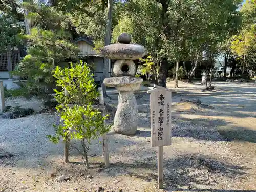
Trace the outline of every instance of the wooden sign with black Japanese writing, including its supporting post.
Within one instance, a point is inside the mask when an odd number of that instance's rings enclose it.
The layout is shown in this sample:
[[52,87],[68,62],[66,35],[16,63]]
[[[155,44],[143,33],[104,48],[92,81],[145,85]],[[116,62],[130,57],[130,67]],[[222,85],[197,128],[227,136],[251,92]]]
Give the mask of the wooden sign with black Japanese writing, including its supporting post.
[[158,146],[158,188],[163,188],[163,146],[171,145],[172,90],[154,86],[150,93],[151,146]]

